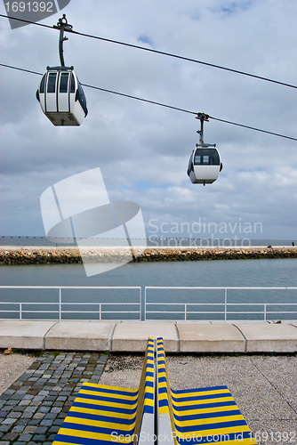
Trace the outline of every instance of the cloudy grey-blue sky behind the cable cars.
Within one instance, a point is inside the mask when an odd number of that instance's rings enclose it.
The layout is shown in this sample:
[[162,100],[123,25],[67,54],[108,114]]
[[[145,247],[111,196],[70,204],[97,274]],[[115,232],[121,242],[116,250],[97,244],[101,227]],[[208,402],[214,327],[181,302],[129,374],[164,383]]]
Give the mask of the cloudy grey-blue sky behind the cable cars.
[[[62,13],[82,33],[296,85],[295,0],[71,0],[41,22]],[[60,63],[58,31],[0,26],[1,63],[40,73]],[[84,84],[297,137],[296,89],[84,36],[68,35],[64,55]],[[205,142],[223,170],[194,185],[195,115],[84,88],[84,123],[55,127],[36,101],[40,77],[0,73],[0,235],[44,236],[44,190],[100,167],[111,200],[140,205],[148,237],[197,236],[200,222],[213,223],[208,237],[297,239],[297,142],[210,120]]]

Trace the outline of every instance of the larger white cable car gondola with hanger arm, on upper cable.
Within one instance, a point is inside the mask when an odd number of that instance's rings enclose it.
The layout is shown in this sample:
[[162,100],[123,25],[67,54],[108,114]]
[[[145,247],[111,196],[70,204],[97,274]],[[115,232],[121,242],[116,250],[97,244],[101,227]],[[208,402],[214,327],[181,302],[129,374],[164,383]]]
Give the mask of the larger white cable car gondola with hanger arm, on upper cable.
[[[63,21],[65,20],[65,21]],[[56,27],[60,29],[60,67],[47,67],[36,92],[36,98],[53,125],[81,125],[87,116],[84,90],[73,67],[65,67],[63,57],[64,30],[71,31],[65,14]]]

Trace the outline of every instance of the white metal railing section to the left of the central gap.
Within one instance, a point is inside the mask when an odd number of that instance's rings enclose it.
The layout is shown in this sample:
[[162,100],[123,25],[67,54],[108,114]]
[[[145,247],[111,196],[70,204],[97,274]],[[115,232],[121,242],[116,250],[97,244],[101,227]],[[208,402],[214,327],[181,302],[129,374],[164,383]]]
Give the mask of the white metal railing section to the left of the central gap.
[[[57,302],[46,302],[46,303],[42,303],[42,302],[0,302],[0,304],[15,304],[17,306],[19,306],[18,309],[16,310],[1,310],[1,306],[0,306],[0,313],[19,313],[19,319],[20,320],[24,320],[23,315],[26,313],[56,313],[58,314],[56,319],[45,319],[45,320],[63,320],[62,315],[63,314],[71,314],[71,313],[76,313],[76,314],[97,314],[98,318],[96,320],[102,320],[102,314],[114,314],[116,315],[116,313],[121,313],[121,314],[137,314],[137,318],[134,320],[141,320],[141,287],[124,287],[124,286],[100,286],[100,287],[73,287],[73,286],[0,286],[0,289],[35,289],[35,290],[44,290],[44,289],[56,289],[59,290],[59,301]],[[109,302],[96,302],[96,303],[92,303],[92,302],[87,302],[87,303],[76,303],[76,302],[63,302],[62,301],[62,290],[66,290],[66,289],[71,289],[71,290],[75,290],[75,289],[84,289],[84,290],[102,290],[102,289],[112,289],[112,290],[126,290],[126,289],[131,289],[131,290],[138,290],[139,291],[139,296],[137,298],[137,301],[135,300],[135,302],[132,303],[126,303],[125,301],[121,301],[119,300],[116,303],[109,303]],[[36,306],[57,306],[56,310],[40,310],[40,309],[36,309],[35,311],[33,310],[26,310],[26,306],[28,307],[28,305],[36,305]],[[127,311],[127,310],[121,310],[121,311],[117,311],[116,308],[113,311],[106,311],[104,310],[104,306],[121,306],[121,307],[125,307],[125,306],[138,306],[138,311]],[[96,307],[96,311],[67,311],[64,310],[64,306],[82,306],[84,308],[84,306],[95,306]],[[3,317],[0,317],[0,319],[2,318],[2,320],[4,319]],[[121,317],[122,319],[122,317]],[[10,319],[6,319],[6,320],[12,320]],[[25,317],[25,320],[38,320],[38,319],[30,319],[28,317]],[[40,320],[40,319],[39,319]],[[44,319],[43,319],[44,320]],[[65,320],[65,319],[64,319]],[[76,319],[67,319],[67,320],[77,320]],[[111,319],[105,319],[105,320],[116,320],[115,318],[111,318]]]

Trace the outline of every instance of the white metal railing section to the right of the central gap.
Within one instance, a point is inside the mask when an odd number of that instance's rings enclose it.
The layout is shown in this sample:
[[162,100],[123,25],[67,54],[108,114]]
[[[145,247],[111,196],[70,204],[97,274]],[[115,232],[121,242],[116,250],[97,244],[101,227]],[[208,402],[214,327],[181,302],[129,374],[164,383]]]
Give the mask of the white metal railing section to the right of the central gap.
[[[168,302],[161,302],[158,301],[156,302],[148,302],[148,290],[152,290],[152,289],[159,289],[159,290],[223,290],[224,291],[224,301],[223,303],[190,303],[190,302],[184,302],[184,303],[168,303]],[[293,314],[293,318],[292,320],[296,320],[297,319],[297,303],[229,303],[228,302],[228,291],[229,290],[280,290],[280,291],[284,291],[284,290],[297,290],[297,287],[158,287],[158,286],[147,286],[145,287],[144,290],[144,314],[145,314],[145,319],[144,320],[159,320],[159,317],[157,318],[149,318],[148,319],[148,314],[163,314],[163,316],[165,316],[165,314],[173,314],[173,318],[172,319],[168,319],[166,318],[166,320],[177,320],[176,316],[178,314],[180,314],[182,316],[181,320],[189,320],[189,315],[202,315],[202,314],[220,314],[221,315],[221,320],[227,321],[228,320],[228,315],[229,314],[257,314],[258,316],[263,314],[263,320],[267,321],[268,320],[268,315],[270,315],[271,317],[269,318],[269,320],[273,319],[273,315],[277,314],[277,316],[279,317],[280,314]],[[183,298],[184,299],[184,298]],[[297,302],[297,299],[296,299]],[[177,307],[181,307],[181,311],[149,311],[148,307],[149,306],[177,306]],[[216,306],[218,309],[221,308],[221,311],[193,311],[190,310],[189,307],[190,306]],[[259,307],[260,311],[229,311],[229,307],[230,306],[256,306]],[[269,311],[269,307],[270,306],[289,306],[295,307],[295,311],[280,311],[279,309],[277,309],[277,311]],[[262,308],[262,311],[261,311]],[[195,319],[190,319],[190,320],[199,320],[197,317]],[[201,320],[201,318],[200,318]],[[205,320],[205,319],[202,319]],[[258,320],[258,319],[257,319]]]

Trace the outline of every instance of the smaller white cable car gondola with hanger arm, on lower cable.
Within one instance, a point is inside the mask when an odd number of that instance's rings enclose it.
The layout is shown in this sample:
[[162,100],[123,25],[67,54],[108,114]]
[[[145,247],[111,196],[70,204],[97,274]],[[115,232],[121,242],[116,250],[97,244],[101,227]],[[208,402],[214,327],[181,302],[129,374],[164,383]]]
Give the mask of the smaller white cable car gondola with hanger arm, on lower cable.
[[189,158],[187,174],[194,184],[212,184],[219,177],[222,169],[220,153],[215,144],[204,143],[203,141],[203,123],[208,122],[208,117],[204,113],[198,114],[201,122],[200,142],[196,144]]

